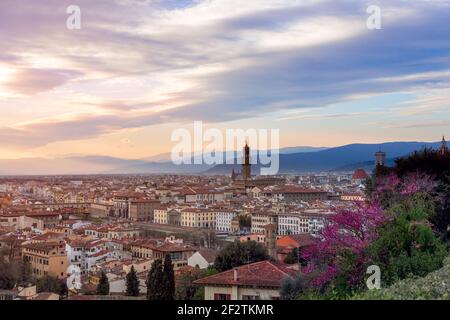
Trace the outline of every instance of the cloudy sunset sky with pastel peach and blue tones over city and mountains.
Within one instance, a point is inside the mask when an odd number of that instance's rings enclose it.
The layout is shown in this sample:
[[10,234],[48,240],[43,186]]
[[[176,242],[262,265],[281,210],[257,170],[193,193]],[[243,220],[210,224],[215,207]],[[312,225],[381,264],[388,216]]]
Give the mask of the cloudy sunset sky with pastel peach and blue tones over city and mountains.
[[194,120],[282,146],[436,141],[449,21],[448,0],[1,0],[0,158],[144,158]]

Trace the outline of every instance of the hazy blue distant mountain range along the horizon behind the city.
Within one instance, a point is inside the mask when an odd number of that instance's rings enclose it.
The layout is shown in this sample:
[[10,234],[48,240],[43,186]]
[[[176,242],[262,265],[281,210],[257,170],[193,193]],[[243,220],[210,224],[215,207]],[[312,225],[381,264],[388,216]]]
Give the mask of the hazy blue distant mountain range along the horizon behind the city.
[[[438,148],[440,143],[389,142],[383,144],[349,144],[336,148],[290,147],[280,149],[280,173],[323,171],[351,171],[356,168],[370,170],[374,153],[387,153],[388,164],[424,147]],[[236,153],[240,162],[242,152]],[[200,158],[201,155],[194,155]],[[59,158],[0,159],[0,175],[51,175],[51,174],[230,174],[233,165],[174,165],[170,154],[148,159],[121,159],[107,156],[68,156]],[[240,165],[234,166],[240,171]],[[253,173],[259,172],[253,166]]]

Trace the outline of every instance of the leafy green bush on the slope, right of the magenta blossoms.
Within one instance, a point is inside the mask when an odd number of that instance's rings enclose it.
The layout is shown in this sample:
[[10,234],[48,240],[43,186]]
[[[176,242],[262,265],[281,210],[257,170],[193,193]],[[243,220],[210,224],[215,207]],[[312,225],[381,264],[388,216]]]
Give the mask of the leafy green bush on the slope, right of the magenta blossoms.
[[393,220],[369,249],[373,264],[382,270],[383,285],[442,267],[448,250],[428,223],[433,213],[432,201],[423,194],[391,208]]

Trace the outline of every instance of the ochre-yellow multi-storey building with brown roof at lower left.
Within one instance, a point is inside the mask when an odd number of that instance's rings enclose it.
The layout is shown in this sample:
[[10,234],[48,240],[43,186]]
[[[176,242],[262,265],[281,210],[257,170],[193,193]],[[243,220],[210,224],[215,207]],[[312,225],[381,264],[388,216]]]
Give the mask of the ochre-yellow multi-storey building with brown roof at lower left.
[[22,256],[38,278],[46,275],[64,278],[67,273],[67,254],[64,242],[30,243],[22,247]]

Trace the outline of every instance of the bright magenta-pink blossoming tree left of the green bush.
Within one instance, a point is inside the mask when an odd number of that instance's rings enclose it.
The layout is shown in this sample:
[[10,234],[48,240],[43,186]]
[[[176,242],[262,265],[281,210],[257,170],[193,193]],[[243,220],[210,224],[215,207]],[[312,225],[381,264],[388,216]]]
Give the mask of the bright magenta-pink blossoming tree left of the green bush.
[[309,262],[303,272],[315,289],[334,286],[351,292],[361,286],[368,263],[367,247],[377,239],[377,229],[387,221],[376,203],[356,203],[353,209],[333,215],[321,236],[302,256]]

